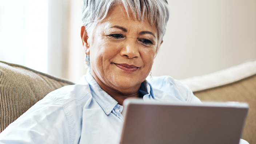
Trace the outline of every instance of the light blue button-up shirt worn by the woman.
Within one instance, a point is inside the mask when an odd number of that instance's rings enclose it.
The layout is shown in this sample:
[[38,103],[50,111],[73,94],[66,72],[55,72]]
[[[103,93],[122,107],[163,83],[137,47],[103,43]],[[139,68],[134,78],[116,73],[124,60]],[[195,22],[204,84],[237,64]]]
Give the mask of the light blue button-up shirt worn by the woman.
[[[145,80],[140,92],[145,101],[200,102],[169,76]],[[0,133],[0,143],[118,144],[122,110],[87,72],[79,84],[57,89],[28,109]]]

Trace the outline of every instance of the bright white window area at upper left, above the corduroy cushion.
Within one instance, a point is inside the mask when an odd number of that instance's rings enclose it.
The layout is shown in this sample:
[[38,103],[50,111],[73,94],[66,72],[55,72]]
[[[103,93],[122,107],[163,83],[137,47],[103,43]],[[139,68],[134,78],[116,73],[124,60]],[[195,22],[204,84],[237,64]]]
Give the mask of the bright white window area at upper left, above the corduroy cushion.
[[0,0],[0,61],[47,72],[47,0]]

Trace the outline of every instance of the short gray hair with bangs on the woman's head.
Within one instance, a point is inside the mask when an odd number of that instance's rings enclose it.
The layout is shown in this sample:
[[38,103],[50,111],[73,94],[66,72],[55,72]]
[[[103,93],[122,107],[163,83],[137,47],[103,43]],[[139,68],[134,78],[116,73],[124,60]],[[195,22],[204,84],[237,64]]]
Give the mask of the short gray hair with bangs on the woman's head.
[[[135,20],[146,19],[157,28],[158,40],[162,40],[169,19],[169,7],[167,0],[83,0],[82,25],[92,36],[95,26],[103,21],[108,11],[116,5],[123,5],[128,17],[132,14]],[[132,13],[129,13],[132,12]],[[156,49],[156,53],[159,48]]]

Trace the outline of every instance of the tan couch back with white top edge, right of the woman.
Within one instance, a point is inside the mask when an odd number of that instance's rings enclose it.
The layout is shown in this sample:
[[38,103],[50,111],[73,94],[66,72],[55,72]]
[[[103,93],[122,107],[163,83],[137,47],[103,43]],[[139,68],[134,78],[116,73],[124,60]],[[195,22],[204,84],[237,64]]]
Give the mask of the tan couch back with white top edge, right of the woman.
[[240,101],[249,104],[242,139],[256,143],[256,61],[208,75],[181,80],[202,101]]

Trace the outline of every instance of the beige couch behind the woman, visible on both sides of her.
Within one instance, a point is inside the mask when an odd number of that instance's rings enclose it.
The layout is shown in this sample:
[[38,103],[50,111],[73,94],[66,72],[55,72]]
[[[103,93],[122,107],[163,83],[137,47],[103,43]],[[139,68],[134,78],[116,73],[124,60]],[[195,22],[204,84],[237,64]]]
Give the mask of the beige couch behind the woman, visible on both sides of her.
[[[256,61],[181,80],[202,101],[241,101],[250,106],[242,138],[256,143]],[[0,132],[49,92],[71,85],[45,73],[0,61]]]

